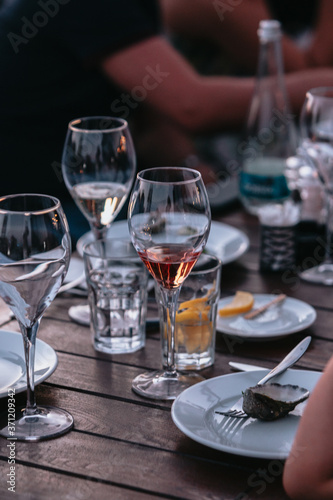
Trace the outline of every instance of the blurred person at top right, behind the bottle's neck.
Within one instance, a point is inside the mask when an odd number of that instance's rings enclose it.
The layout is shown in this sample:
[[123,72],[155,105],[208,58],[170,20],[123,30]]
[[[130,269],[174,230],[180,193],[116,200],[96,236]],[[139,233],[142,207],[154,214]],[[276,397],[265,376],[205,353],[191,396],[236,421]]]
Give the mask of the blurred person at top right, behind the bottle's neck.
[[170,34],[210,42],[226,71],[254,74],[262,19],[281,23],[287,73],[333,65],[332,0],[160,0],[160,5]]

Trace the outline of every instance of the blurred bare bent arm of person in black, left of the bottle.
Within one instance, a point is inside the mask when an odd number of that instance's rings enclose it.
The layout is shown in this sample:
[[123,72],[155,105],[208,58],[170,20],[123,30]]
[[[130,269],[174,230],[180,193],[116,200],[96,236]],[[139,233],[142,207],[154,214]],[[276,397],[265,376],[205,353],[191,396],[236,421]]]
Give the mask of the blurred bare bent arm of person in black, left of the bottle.
[[254,85],[253,79],[198,75],[162,37],[112,55],[102,68],[127,96],[138,94],[139,103],[190,133],[241,125]]

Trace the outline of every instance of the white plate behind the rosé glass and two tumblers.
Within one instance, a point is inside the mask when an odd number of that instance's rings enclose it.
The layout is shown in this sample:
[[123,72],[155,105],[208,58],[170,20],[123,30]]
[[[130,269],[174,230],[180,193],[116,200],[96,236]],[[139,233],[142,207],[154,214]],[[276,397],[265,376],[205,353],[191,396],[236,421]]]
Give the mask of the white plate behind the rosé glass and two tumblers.
[[[128,222],[122,220],[114,222],[108,231],[108,237],[129,237]],[[79,255],[83,254],[83,247],[93,240],[92,233],[85,233],[78,240],[76,250]],[[238,259],[249,248],[249,239],[242,231],[222,222],[212,221],[206,251],[216,255],[223,264],[228,264]]]

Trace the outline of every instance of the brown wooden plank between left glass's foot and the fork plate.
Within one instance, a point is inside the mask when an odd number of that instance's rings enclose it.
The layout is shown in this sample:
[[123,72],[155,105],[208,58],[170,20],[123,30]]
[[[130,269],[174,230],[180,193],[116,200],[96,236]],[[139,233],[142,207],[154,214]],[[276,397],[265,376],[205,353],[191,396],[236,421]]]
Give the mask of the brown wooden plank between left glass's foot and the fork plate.
[[[248,473],[267,462],[222,453],[196,443],[183,435],[173,423],[170,412],[163,409],[59,389],[48,384],[42,384],[38,388],[37,402],[40,405],[65,408],[73,415],[75,430],[91,435],[186,454],[198,460],[210,460],[220,465],[246,469]],[[16,404],[18,408],[25,405],[25,394],[16,397]],[[5,403],[1,406],[5,409]],[[0,441],[0,454],[3,457],[6,456],[4,443],[5,441]]]

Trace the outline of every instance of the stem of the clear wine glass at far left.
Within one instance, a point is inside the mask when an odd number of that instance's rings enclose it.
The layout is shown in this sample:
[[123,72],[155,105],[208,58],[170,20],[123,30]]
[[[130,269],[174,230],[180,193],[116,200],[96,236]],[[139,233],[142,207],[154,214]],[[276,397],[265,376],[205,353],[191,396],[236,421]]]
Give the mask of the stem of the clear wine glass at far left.
[[25,327],[20,323],[20,329],[23,335],[25,367],[27,374],[27,405],[24,410],[25,415],[36,413],[37,405],[35,399],[35,345],[37,330],[40,320],[31,327]]

